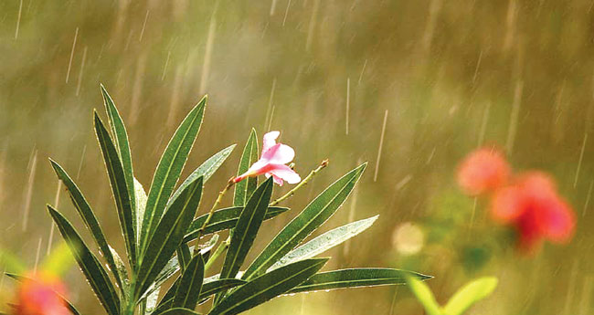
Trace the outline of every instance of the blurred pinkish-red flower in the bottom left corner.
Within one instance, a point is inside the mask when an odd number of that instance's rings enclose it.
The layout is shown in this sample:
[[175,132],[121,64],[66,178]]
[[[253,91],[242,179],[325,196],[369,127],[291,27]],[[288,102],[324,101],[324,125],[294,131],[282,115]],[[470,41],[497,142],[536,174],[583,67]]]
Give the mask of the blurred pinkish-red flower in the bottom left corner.
[[31,273],[16,292],[15,315],[68,315],[66,287],[46,272]]

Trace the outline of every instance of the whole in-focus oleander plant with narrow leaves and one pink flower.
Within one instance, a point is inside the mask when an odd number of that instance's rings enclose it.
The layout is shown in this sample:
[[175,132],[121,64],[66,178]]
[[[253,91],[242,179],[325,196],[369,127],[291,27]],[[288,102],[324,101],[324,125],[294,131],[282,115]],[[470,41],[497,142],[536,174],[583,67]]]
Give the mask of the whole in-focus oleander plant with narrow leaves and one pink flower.
[[[215,201],[201,200],[204,185],[228,159],[235,145],[217,152],[175,187],[203,121],[205,96],[190,110],[167,144],[146,193],[134,177],[122,117],[102,86],[101,92],[108,123],[101,121],[95,111],[94,129],[109,175],[125,254],[111,247],[115,240],[108,242],[79,186],[53,160],[51,166],[67,188],[87,231],[75,229],[69,221],[75,218],[66,218],[52,205],[48,205],[48,213],[107,314],[197,314],[199,308],[211,315],[232,315],[287,294],[406,285],[411,278],[416,281],[430,278],[394,268],[322,271],[329,258],[319,255],[363,232],[377,220],[374,216],[355,221],[307,240],[345,203],[364,173],[365,163],[313,198],[253,261],[246,261],[256,237],[270,235],[261,231],[262,222],[282,214],[294,214],[281,206],[282,202],[311,181],[328,162],[324,161],[301,179],[289,164],[293,149],[276,143],[279,132],[264,135],[259,154],[258,137],[252,130],[240,156],[237,175],[231,177]],[[267,179],[259,183],[259,177]],[[273,198],[274,184],[281,185],[284,181],[295,185],[287,194]],[[233,204],[222,206],[223,195],[231,190]],[[99,253],[83,241],[83,232],[92,236]],[[225,240],[219,239],[219,235],[227,234]],[[220,259],[218,264],[217,259]],[[220,270],[213,269],[219,265]],[[13,278],[23,280],[27,276],[13,275]],[[63,299],[64,310],[79,314],[66,297],[59,297]],[[56,308],[52,314],[63,313],[59,306]]]

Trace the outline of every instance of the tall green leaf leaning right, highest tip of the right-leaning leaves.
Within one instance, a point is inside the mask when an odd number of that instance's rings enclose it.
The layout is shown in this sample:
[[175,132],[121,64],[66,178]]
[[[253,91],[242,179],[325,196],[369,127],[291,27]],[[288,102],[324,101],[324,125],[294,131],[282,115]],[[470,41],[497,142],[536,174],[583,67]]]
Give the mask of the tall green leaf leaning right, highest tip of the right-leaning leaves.
[[174,191],[175,183],[186,164],[187,155],[192,150],[198,131],[200,131],[206,104],[207,97],[205,96],[194,109],[190,110],[167,144],[157,165],[144,210],[141,230],[141,244],[144,246],[141,248],[141,252],[146,250],[146,245],[153,236],[169,196]]

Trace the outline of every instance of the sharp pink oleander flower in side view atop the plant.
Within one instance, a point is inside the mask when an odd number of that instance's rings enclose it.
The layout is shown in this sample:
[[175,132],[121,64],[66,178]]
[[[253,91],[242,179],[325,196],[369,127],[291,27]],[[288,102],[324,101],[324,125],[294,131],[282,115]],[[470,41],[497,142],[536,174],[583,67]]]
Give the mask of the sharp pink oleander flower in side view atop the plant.
[[301,182],[301,177],[298,173],[295,173],[291,167],[285,165],[286,163],[292,162],[295,157],[295,151],[292,147],[277,143],[276,139],[279,137],[281,132],[270,131],[264,135],[262,143],[262,156],[260,160],[253,163],[248,172],[242,173],[238,177],[233,179],[234,183],[238,183],[246,177],[258,176],[261,174],[266,177],[272,176],[274,183],[282,185],[282,181],[285,180],[289,184],[297,184]]

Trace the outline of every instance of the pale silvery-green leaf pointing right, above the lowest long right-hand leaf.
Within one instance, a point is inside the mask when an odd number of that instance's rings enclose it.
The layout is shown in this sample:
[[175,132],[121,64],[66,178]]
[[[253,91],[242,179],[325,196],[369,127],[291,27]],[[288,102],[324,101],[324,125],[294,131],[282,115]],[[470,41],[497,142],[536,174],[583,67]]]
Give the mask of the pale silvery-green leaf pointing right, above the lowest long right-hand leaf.
[[291,264],[292,262],[298,260],[307,259],[322,254],[324,251],[335,247],[345,242],[345,240],[365,231],[369,226],[372,226],[374,222],[376,222],[378,216],[379,215],[376,215],[364,220],[349,223],[345,226],[336,227],[321,236],[317,236],[311,241],[303,244],[301,247],[297,247],[290,251],[287,255],[272,265],[268,271]]

